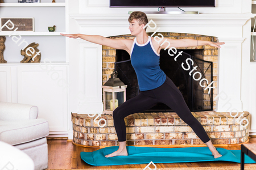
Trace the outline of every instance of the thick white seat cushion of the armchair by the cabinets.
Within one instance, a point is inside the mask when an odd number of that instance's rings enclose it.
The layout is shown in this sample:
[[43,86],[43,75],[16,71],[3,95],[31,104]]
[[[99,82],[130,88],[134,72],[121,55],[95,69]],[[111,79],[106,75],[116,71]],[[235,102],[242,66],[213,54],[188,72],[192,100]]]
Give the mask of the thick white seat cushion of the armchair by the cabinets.
[[48,121],[34,120],[0,121],[0,141],[18,145],[49,135]]

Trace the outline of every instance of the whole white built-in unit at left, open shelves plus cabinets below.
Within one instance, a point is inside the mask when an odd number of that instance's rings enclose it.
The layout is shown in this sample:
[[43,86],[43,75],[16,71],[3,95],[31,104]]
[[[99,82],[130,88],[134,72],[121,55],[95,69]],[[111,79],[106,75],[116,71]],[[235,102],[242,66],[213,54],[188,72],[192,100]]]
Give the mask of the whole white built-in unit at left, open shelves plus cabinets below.
[[[69,32],[69,0],[4,1],[0,3],[0,18],[34,18],[34,31],[0,31],[0,36],[6,37],[3,56],[7,61],[0,63],[0,101],[36,105],[38,118],[49,122],[50,135],[72,136],[68,104],[69,38],[60,35]],[[56,30],[49,32],[48,27],[53,25]],[[36,48],[40,51],[40,62],[21,63],[21,50],[32,42],[39,44]]]

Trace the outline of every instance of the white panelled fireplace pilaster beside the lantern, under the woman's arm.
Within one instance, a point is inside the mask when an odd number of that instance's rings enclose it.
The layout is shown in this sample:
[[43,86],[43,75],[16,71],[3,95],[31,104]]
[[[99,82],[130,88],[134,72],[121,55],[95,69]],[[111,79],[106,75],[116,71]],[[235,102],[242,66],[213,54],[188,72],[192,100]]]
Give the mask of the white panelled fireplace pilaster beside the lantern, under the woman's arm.
[[79,113],[102,113],[102,45],[79,42]]

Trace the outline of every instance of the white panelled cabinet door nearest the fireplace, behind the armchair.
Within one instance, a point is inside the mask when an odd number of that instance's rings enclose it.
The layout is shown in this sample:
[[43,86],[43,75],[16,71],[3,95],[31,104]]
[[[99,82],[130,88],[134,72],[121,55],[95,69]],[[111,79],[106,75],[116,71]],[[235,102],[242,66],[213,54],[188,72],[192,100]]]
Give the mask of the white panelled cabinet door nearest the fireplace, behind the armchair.
[[18,103],[38,106],[38,118],[48,120],[50,134],[67,133],[67,66],[20,66],[17,79]]

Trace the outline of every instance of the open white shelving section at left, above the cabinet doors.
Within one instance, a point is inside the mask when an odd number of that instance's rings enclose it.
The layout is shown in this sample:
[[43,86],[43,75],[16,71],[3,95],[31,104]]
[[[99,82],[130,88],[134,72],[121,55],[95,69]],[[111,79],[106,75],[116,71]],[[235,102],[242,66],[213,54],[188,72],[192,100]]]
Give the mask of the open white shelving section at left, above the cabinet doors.
[[[61,1],[18,3],[6,0],[4,3],[0,3],[2,18],[34,18],[34,31],[0,31],[0,36],[6,36],[7,39],[5,42],[7,63],[23,64],[15,61],[18,58],[13,57],[20,50],[18,45],[13,44],[14,40],[11,36],[15,35],[22,36],[22,39],[29,43],[38,43],[39,49],[42,50],[42,61],[44,58],[49,58],[52,62],[68,63],[68,42],[65,36],[60,35],[60,33],[68,33],[68,1]],[[56,25],[56,31],[49,32],[48,27],[53,25]],[[11,36],[9,37],[9,35]],[[12,50],[10,50],[10,46],[13,46]]]

